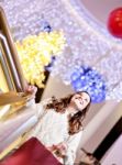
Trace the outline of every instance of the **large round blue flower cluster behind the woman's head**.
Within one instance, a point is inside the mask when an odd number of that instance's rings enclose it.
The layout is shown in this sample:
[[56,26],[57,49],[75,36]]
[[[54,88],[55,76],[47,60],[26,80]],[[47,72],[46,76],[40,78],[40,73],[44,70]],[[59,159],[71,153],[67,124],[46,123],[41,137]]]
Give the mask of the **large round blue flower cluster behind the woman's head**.
[[91,96],[92,102],[101,102],[106,99],[106,82],[103,77],[91,67],[81,66],[75,69],[70,76],[75,91],[85,90]]

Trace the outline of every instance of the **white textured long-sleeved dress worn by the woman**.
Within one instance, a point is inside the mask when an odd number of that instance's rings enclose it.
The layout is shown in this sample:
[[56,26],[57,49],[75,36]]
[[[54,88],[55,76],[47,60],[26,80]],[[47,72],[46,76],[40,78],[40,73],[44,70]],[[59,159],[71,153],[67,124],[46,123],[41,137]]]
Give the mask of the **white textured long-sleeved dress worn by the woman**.
[[[48,99],[49,101],[49,99]],[[45,146],[56,145],[60,142],[67,144],[65,165],[74,165],[76,151],[81,139],[82,131],[74,135],[68,134],[68,112],[59,113],[54,109],[45,110],[46,101],[31,103],[38,118],[38,122],[32,129],[29,136],[36,136]],[[56,156],[56,155],[55,155]],[[59,160],[63,163],[63,160]]]

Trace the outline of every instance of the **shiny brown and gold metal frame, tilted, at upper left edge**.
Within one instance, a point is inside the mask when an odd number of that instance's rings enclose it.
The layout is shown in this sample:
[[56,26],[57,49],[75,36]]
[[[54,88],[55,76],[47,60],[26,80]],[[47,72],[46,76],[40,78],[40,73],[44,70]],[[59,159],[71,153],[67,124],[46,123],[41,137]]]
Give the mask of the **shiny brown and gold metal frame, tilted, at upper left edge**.
[[0,88],[3,91],[22,92],[26,82],[19,62],[18,53],[10,33],[3,9],[0,7]]

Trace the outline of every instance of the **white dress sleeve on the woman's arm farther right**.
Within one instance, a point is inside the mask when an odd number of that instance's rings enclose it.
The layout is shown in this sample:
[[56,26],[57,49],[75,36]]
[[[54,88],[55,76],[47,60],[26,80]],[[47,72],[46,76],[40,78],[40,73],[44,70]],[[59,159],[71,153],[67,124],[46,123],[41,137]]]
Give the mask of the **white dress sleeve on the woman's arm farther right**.
[[65,165],[74,165],[74,162],[76,158],[76,152],[77,152],[81,135],[82,135],[82,131],[80,131],[79,133],[76,133],[75,135],[71,135],[69,140],[67,141],[67,154],[66,154],[66,158],[64,160]]

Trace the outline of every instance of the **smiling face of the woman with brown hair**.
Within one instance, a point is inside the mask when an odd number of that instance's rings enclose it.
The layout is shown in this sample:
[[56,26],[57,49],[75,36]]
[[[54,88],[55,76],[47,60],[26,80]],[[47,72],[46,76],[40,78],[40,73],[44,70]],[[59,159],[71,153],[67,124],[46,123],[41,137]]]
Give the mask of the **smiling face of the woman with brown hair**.
[[76,110],[84,110],[90,102],[90,97],[87,92],[76,94],[73,96],[70,103]]

